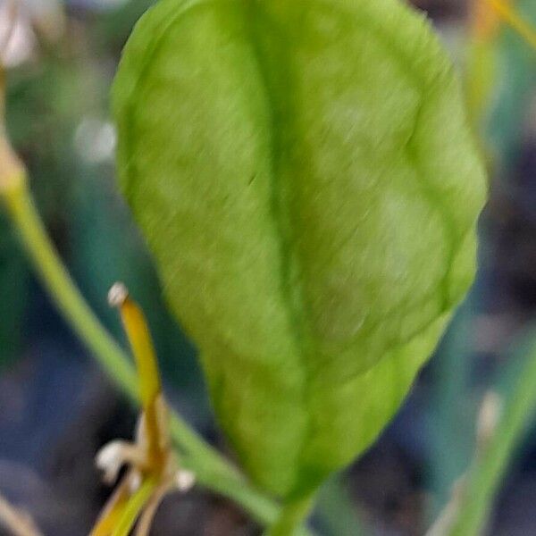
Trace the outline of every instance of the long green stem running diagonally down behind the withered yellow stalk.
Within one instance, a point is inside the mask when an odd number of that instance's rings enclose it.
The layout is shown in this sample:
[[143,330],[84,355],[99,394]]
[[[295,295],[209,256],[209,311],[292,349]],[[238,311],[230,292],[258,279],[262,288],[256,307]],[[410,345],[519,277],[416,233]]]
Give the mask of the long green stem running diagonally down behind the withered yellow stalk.
[[[11,177],[0,185],[14,226],[36,272],[72,329],[86,344],[113,382],[131,399],[138,400],[138,380],[129,357],[115,342],[81,296],[46,234],[27,187],[26,177]],[[279,506],[255,490],[239,471],[208,445],[180,415],[172,415],[172,439],[185,466],[197,474],[205,487],[232,498],[256,521],[269,525],[279,515]]]

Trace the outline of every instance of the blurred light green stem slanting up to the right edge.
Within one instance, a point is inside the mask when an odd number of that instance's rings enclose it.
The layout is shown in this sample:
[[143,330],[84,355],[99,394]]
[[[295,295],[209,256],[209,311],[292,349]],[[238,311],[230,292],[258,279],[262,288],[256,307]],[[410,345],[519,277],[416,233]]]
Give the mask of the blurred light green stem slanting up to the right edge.
[[460,501],[460,510],[450,536],[476,536],[482,532],[515,447],[536,412],[534,343],[528,355],[515,389],[504,405],[493,437],[473,462],[464,490],[466,500]]

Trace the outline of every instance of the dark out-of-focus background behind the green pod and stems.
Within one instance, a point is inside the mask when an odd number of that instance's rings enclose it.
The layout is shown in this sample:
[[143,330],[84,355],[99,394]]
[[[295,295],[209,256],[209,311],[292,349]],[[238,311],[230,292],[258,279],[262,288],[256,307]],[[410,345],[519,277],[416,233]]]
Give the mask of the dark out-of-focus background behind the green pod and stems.
[[[23,0],[4,50],[8,127],[47,229],[84,296],[124,342],[105,298],[114,281],[126,282],[147,313],[173,406],[225,450],[195,348],[166,312],[114,186],[108,93],[121,47],[150,4]],[[314,523],[324,536],[423,534],[471,459],[483,395],[512,389],[523,346],[536,341],[536,50],[506,26],[475,23],[465,0],[415,4],[430,14],[464,73],[488,159],[481,268],[396,420],[322,490]],[[515,4],[536,24],[536,2]],[[0,0],[0,36],[6,6]],[[96,450],[130,438],[136,419],[57,314],[0,211],[0,494],[46,535],[87,534],[109,494],[94,467]],[[535,504],[536,428],[516,452],[489,533],[536,534]],[[237,507],[203,490],[166,498],[153,529],[163,536],[258,533]]]

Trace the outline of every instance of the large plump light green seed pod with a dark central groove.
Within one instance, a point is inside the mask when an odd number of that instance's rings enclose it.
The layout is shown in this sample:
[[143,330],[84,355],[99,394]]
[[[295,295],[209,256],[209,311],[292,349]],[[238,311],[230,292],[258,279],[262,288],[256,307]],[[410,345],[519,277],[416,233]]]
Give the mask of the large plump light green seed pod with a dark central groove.
[[368,448],[473,280],[482,165],[395,0],[164,0],[113,89],[121,188],[247,472]]

